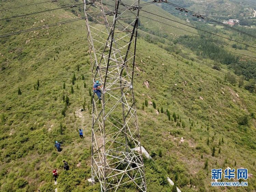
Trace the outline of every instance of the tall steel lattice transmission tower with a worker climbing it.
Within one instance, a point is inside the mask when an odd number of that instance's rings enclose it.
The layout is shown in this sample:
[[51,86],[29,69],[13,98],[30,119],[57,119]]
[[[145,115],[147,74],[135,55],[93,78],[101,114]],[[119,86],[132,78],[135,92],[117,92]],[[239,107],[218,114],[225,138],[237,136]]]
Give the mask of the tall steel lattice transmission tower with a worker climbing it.
[[91,179],[101,191],[128,182],[146,191],[132,87],[140,1],[129,2],[84,0],[93,81],[103,83],[103,99],[93,96],[91,143]]

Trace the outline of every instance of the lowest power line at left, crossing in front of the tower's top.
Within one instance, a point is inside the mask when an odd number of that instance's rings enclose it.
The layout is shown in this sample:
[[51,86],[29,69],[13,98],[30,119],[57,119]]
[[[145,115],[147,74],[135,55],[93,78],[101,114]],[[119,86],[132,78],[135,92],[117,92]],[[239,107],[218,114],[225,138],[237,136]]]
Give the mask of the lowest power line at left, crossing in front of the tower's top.
[[[143,3],[143,4],[140,4],[140,7],[141,6],[145,6],[145,5],[149,5],[149,4],[152,4],[152,3],[155,3],[155,2],[148,2],[148,3]],[[136,8],[138,7],[137,5],[135,6],[129,6],[129,8]],[[88,7],[89,8],[89,7]],[[87,8],[87,9],[88,9]],[[87,10],[86,9],[86,10]],[[121,8],[119,10],[125,10],[126,8]],[[21,33],[26,33],[26,32],[30,32],[30,31],[33,31],[33,30],[38,30],[38,29],[45,29],[45,28],[48,28],[48,27],[53,27],[53,26],[56,26],[56,25],[60,25],[60,24],[66,24],[66,23],[70,23],[70,22],[74,22],[74,21],[79,21],[79,20],[83,20],[83,19],[86,19],[86,18],[92,18],[92,17],[97,17],[97,16],[102,16],[102,15],[108,15],[110,13],[114,13],[115,10],[112,10],[112,11],[108,11],[108,12],[104,12],[104,13],[100,13],[100,14],[96,14],[96,15],[92,15],[90,17],[80,17],[80,18],[76,18],[76,19],[71,19],[71,20],[67,20],[67,21],[62,21],[62,22],[57,22],[57,23],[52,23],[52,24],[49,24],[49,25],[44,25],[44,26],[40,26],[40,27],[36,27],[36,28],[30,28],[30,29],[26,29],[26,30],[21,30],[21,31],[16,31],[16,32],[12,32],[12,33],[8,33],[8,34],[4,34],[4,35],[0,35],[0,38],[1,37],[8,37],[8,36],[11,36],[11,35],[17,35],[17,34],[21,34]]]

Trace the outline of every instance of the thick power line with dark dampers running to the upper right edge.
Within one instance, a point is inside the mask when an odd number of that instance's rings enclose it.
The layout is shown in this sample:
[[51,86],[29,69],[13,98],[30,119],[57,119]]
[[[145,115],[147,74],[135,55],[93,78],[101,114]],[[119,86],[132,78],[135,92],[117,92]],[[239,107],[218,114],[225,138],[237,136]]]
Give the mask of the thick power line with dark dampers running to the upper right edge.
[[174,7],[177,7],[180,11],[185,11],[185,12],[192,13],[193,16],[196,16],[197,18],[207,19],[207,20],[209,20],[209,21],[212,21],[212,22],[218,23],[218,24],[220,24],[220,25],[223,25],[224,27],[227,27],[227,28],[229,28],[229,29],[232,29],[232,30],[235,30],[235,31],[237,31],[237,32],[240,32],[240,33],[243,33],[243,34],[245,34],[245,35],[248,35],[248,36],[250,36],[250,37],[256,38],[256,36],[254,36],[254,35],[251,35],[251,34],[249,34],[249,33],[246,33],[246,32],[244,32],[244,31],[241,31],[241,30],[239,30],[239,29],[230,27],[229,25],[226,25],[226,24],[224,24],[224,23],[222,23],[222,22],[216,21],[216,20],[211,19],[211,18],[209,18],[209,17],[200,15],[200,14],[195,13],[195,12],[193,12],[193,11],[187,10],[187,9],[185,9],[185,8],[179,6],[179,5],[176,5],[176,4],[174,4],[174,3],[167,2],[167,4],[172,5],[172,6],[174,6]]

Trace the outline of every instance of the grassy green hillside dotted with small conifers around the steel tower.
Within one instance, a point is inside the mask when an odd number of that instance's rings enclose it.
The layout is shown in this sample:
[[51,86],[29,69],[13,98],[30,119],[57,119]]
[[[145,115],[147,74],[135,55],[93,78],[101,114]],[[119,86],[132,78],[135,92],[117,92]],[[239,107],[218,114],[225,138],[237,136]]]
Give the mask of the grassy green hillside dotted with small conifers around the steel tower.
[[[35,2],[40,1],[22,4]],[[82,1],[21,7],[2,12],[1,17],[75,3]],[[0,5],[4,9],[21,3],[2,1]],[[143,9],[182,22],[155,5]],[[66,8],[4,20],[0,34],[83,16],[83,8],[74,10]],[[146,16],[143,12],[141,15]],[[148,191],[171,191],[167,176],[176,180],[181,191],[255,191],[255,87],[253,93],[249,92],[244,88],[248,82],[235,75],[230,65],[201,54],[202,50],[198,54],[189,43],[182,43],[184,31],[143,17],[140,23],[134,93],[141,144],[153,157],[144,158]],[[197,33],[188,27],[183,29]],[[0,41],[0,191],[40,189],[43,192],[54,191],[56,187],[58,191],[100,191],[99,183],[91,186],[87,181],[91,171],[93,82],[85,21],[0,38]],[[234,55],[245,54],[255,62],[255,53],[249,52],[252,48],[240,51],[225,46],[224,49]],[[213,69],[216,65],[221,70]],[[76,80],[72,85],[74,75]],[[22,94],[18,94],[18,89]],[[156,109],[150,101],[156,104]],[[65,103],[68,103],[66,108]],[[81,108],[85,110],[81,112]],[[84,130],[83,139],[79,137],[79,128]],[[61,142],[62,152],[55,149],[55,141]],[[69,171],[63,170],[63,160],[69,163]],[[227,167],[247,168],[253,174],[248,178],[248,187],[211,187],[211,169]],[[59,174],[56,186],[54,168]],[[127,185],[119,191],[137,189]]]

